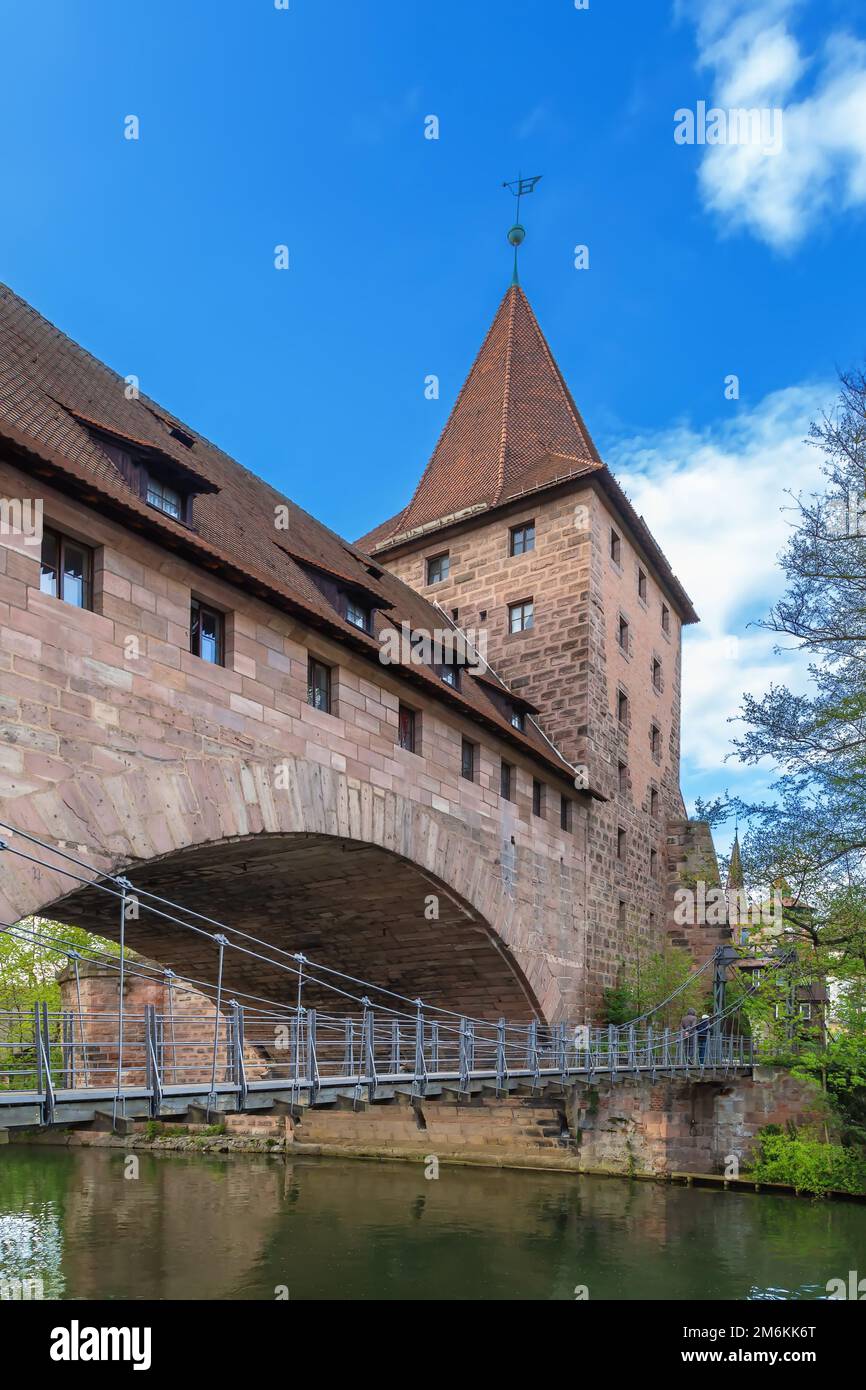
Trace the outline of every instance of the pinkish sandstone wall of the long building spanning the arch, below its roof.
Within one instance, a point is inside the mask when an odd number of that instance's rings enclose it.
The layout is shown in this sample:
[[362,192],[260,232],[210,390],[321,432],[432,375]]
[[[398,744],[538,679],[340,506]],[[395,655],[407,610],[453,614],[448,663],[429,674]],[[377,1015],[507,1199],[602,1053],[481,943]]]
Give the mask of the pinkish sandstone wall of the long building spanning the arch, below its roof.
[[[190,849],[215,847],[218,856],[225,842],[245,837],[331,837],[332,855],[316,870],[314,895],[304,898],[303,880],[289,872],[263,888],[257,883],[240,924],[256,929],[264,920],[263,930],[274,930],[278,944],[292,949],[304,949],[304,933],[314,927],[321,952],[329,924],[336,919],[348,930],[353,910],[367,906],[359,941],[378,941],[381,949],[361,949],[361,965],[368,963],[363,977],[393,958],[411,992],[413,959],[431,959],[443,972],[436,1002],[492,1013],[507,1005],[509,1012],[548,1019],[582,1015],[592,990],[584,979],[588,890],[580,796],[570,831],[560,828],[553,787],[544,816],[532,816],[538,766],[414,688],[421,755],[400,749],[405,691],[386,667],[0,461],[0,495],[32,498],[35,491],[46,525],[93,548],[95,610],[40,594],[39,548],[0,537],[0,819],[75,852],[81,847],[95,870],[164,866],[164,877],[152,883],[170,897],[186,891],[178,866]],[[189,652],[193,595],[225,613],[225,667]],[[334,713],[307,703],[310,652],[335,667]],[[471,783],[460,777],[463,737],[478,745]],[[514,802],[499,796],[502,758],[517,769]],[[377,859],[359,884],[346,872],[349,841],[393,859]],[[388,867],[398,859],[418,869],[409,895]],[[224,888],[245,870],[243,856],[222,880],[213,858],[206,869],[206,901],[220,909]],[[424,917],[425,891],[436,887],[421,891],[424,876],[450,890],[439,927]],[[202,877],[190,877],[199,887]],[[328,883],[335,894],[345,890],[336,913],[325,901]],[[382,901],[389,883],[393,892]],[[51,905],[63,920],[65,909],[57,903],[68,891],[60,873],[7,856],[0,920]],[[270,913],[259,910],[263,892]],[[67,920],[82,920],[79,906],[68,899]],[[86,920],[117,931],[115,920],[95,909]],[[175,938],[129,927],[131,945],[142,954],[161,963],[177,959],[211,979],[213,951],[175,956]],[[466,958],[474,960],[473,984],[460,999]],[[485,973],[495,988],[480,1004]]]

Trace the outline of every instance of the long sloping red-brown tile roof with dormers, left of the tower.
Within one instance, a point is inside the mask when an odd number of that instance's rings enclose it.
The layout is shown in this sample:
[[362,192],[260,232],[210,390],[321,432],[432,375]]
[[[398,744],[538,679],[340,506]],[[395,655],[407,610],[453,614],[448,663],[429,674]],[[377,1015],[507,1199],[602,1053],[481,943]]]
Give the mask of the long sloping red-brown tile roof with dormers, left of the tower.
[[[172,428],[192,438],[192,448],[177,439]],[[95,431],[167,457],[210,489],[196,495],[193,524],[185,525],[147,506],[100,448]],[[399,630],[402,623],[413,631],[449,626],[435,605],[382,571],[189,425],[146,396],[128,399],[124,378],[6,285],[0,285],[0,441],[24,471],[49,478],[61,491],[99,506],[157,543],[327,630],[371,660],[378,660],[382,630]],[[286,509],[288,528],[275,527],[277,507]],[[371,605],[378,603],[374,634],[348,623],[310,570],[334,575],[361,589]],[[468,676],[460,689],[452,689],[425,666],[391,670],[520,745],[562,777],[573,778],[570,764],[531,721],[527,720],[523,734],[509,724],[502,710],[507,687],[489,673],[485,680]],[[502,692],[499,699],[491,684]]]

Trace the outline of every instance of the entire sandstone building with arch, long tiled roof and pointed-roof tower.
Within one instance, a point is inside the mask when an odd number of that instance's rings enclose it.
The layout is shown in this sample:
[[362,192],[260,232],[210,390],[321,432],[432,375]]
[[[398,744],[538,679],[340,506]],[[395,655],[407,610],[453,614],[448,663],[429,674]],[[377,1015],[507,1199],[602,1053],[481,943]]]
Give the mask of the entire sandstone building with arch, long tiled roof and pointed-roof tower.
[[[0,819],[406,999],[596,1013],[666,934],[694,612],[520,291],[482,367],[399,525],[350,545],[0,288]],[[488,667],[382,660],[471,626]],[[38,858],[0,855],[0,922],[117,937]],[[214,977],[202,935],[128,941]],[[228,954],[227,988],[285,1002],[274,962]]]

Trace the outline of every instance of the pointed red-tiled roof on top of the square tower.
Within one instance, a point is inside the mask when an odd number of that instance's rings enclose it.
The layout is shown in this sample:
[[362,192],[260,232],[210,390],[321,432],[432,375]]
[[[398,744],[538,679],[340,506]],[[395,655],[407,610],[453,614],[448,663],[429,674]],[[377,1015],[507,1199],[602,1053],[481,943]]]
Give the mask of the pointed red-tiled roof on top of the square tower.
[[601,467],[530,302],[512,285],[411,502],[364,542],[375,545]]

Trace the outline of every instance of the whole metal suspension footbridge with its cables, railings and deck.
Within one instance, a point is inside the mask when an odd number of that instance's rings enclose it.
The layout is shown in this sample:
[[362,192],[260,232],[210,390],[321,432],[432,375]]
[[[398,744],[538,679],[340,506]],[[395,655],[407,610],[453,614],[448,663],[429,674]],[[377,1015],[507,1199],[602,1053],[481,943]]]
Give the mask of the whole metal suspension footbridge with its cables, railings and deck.
[[[206,917],[118,874],[93,870],[67,849],[0,827],[0,862],[17,855],[61,872],[115,899],[120,945],[82,949],[39,922],[0,924],[11,940],[39,945],[65,962],[72,1006],[47,999],[0,1012],[0,1129],[170,1119],[197,1108],[206,1115],[288,1106],[366,1105],[393,1099],[542,1094],[626,1077],[717,1080],[758,1061],[756,1044],[737,1026],[741,995],[726,1005],[727,963],[717,952],[671,995],[624,1024],[541,1023],[470,1017],[410,999],[382,986],[282,951],[247,931]],[[131,915],[153,913],[175,929],[210,937],[209,980],[163,970],[126,949]],[[227,955],[265,960],[285,979],[282,999],[224,988]],[[82,969],[117,973],[115,1011],[82,1006]],[[709,972],[713,972],[710,976]],[[671,1001],[696,979],[714,986],[713,1013],[684,1031],[657,1026]],[[124,1006],[133,981],[161,986],[161,1008]],[[175,1006],[179,991],[197,1009]],[[195,991],[195,992],[189,992]],[[314,992],[328,1008],[310,1008]],[[746,991],[748,992],[748,991]],[[656,1022],[653,1022],[656,1020]]]

